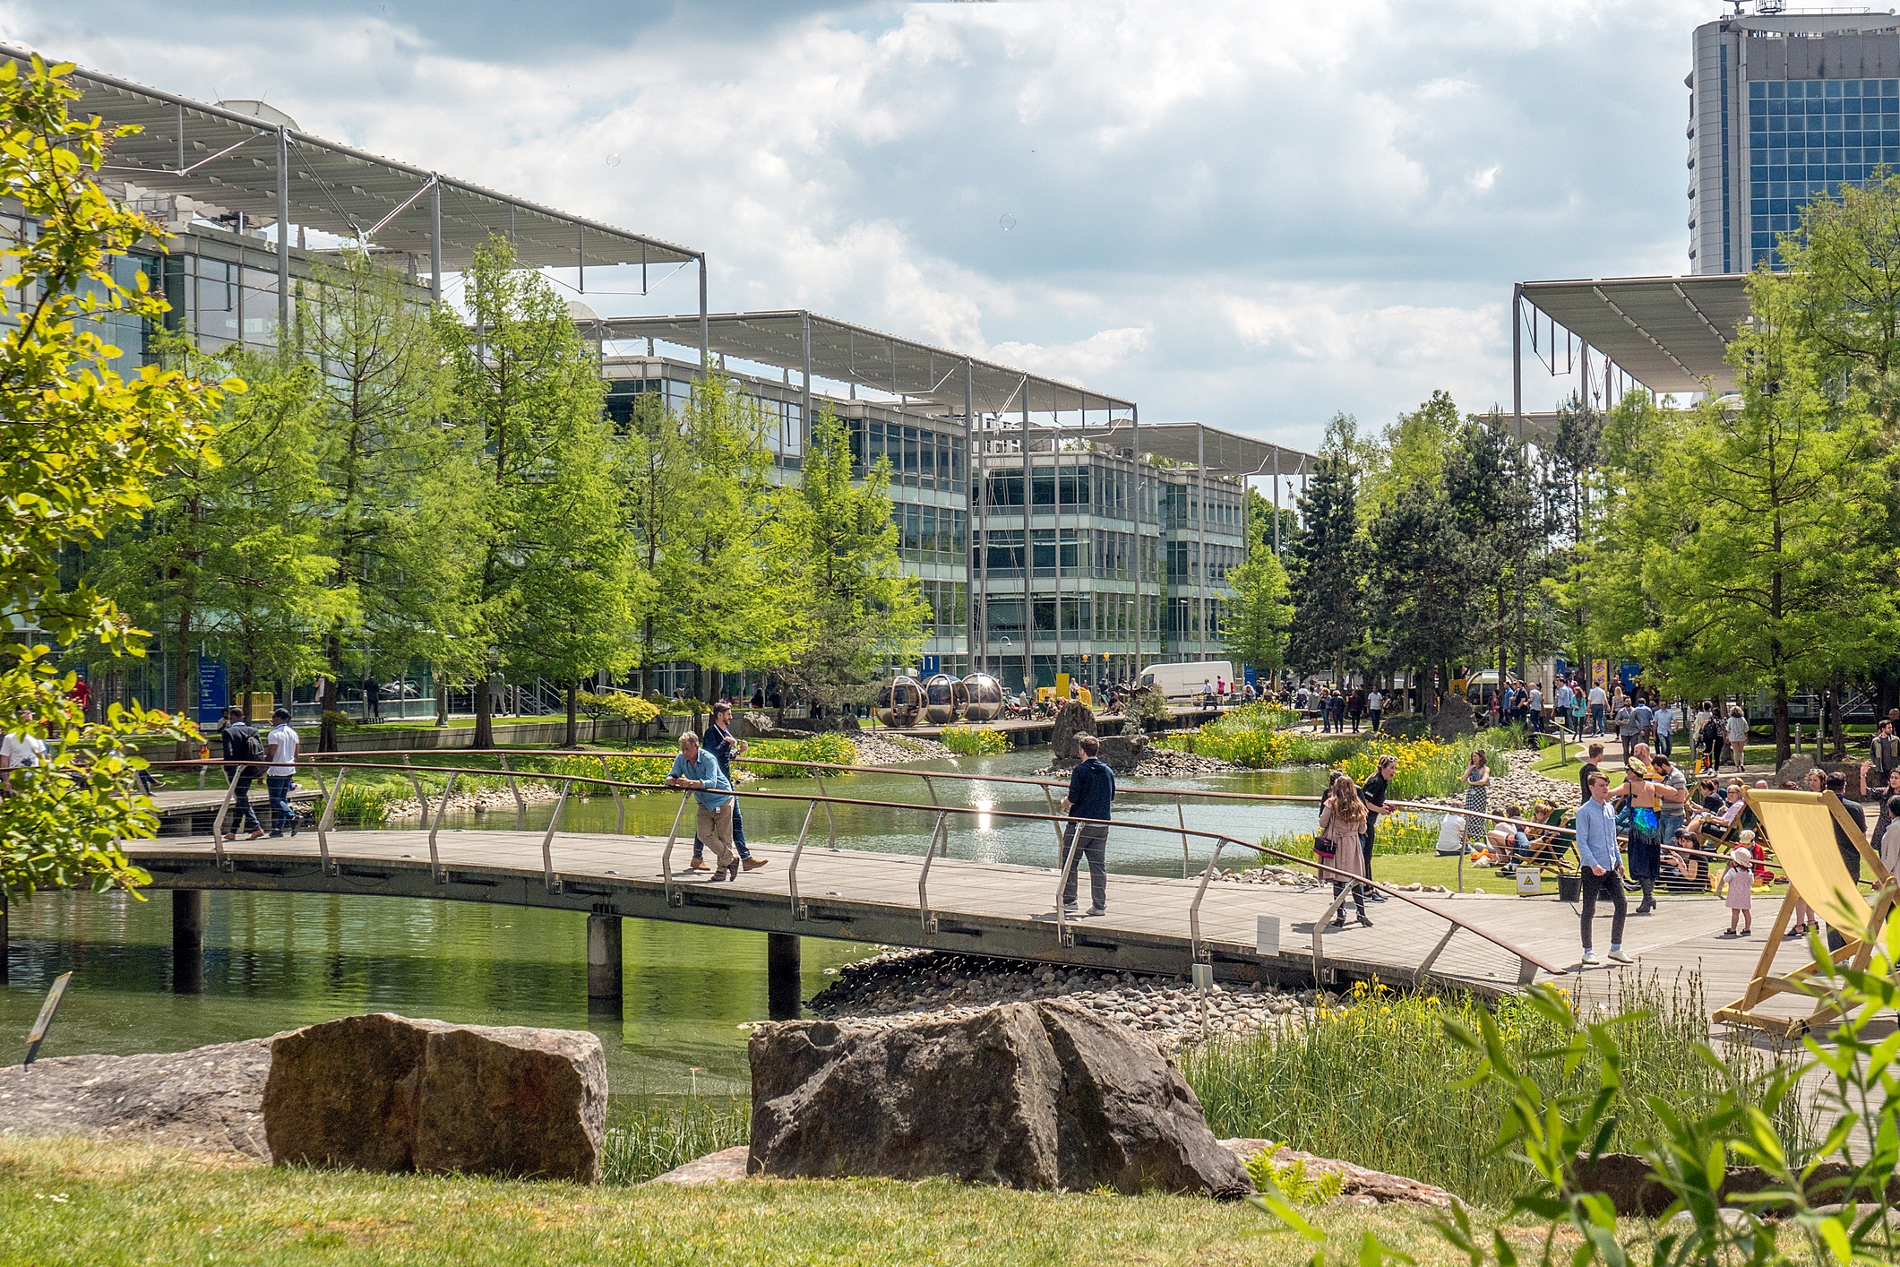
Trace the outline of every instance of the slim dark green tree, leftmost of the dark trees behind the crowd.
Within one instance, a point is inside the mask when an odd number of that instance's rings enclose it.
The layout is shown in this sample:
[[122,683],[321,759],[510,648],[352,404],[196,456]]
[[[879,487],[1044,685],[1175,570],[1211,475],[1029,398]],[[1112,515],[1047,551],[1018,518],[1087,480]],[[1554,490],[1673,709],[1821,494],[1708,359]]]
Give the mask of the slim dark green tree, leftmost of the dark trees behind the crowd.
[[1353,467],[1338,448],[1322,450],[1300,498],[1302,532],[1286,551],[1294,606],[1286,657],[1300,669],[1341,669],[1364,644],[1362,551],[1355,539]]

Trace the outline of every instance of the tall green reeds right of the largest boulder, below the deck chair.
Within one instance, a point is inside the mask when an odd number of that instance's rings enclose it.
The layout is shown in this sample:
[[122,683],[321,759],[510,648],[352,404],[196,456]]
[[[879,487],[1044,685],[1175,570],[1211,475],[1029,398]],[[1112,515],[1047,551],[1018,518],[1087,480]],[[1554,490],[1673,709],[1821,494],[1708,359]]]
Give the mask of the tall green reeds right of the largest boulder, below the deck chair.
[[[1495,1083],[1467,1087],[1471,1056],[1446,1041],[1444,1020],[1476,1028],[1471,997],[1440,1001],[1357,986],[1343,1005],[1322,1009],[1302,1028],[1214,1041],[1182,1052],[1182,1073],[1201,1096],[1216,1136],[1284,1140],[1288,1145],[1438,1183],[1467,1201],[1503,1204],[1524,1180],[1522,1166],[1492,1155],[1505,1100]],[[1495,1005],[1505,1041],[1518,1052],[1543,1050],[1566,1033],[1522,999]],[[1651,976],[1621,978],[1611,1005],[1626,1016],[1619,1030],[1624,1115],[1609,1147],[1651,1136],[1649,1100],[1674,1113],[1714,1107],[1725,1077],[1754,1079],[1799,1064],[1799,1050],[1761,1052],[1727,1045],[1727,1075],[1697,1054],[1708,1043],[1700,976],[1664,990]],[[1596,1069],[1568,1075],[1550,1062],[1531,1066],[1547,1090],[1590,1094]],[[1814,1123],[1792,1102],[1782,1138],[1803,1157],[1816,1145]]]

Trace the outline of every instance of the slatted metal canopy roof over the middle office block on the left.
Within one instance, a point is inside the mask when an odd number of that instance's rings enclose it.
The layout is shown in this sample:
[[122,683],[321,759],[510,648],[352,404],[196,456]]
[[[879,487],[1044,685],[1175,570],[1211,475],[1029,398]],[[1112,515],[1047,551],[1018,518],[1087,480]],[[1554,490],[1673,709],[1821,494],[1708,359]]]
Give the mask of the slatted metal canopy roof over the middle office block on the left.
[[[834,321],[811,312],[712,313],[709,350],[785,370],[811,370],[832,382],[851,382],[914,401],[931,401],[963,412],[961,353],[918,344],[895,334]],[[587,323],[583,323],[587,325]],[[657,338],[682,348],[699,346],[699,315],[612,317],[589,327],[597,338]],[[809,331],[809,363],[806,340]],[[1081,408],[1134,408],[1102,391],[1043,378],[1028,370],[969,359],[971,389],[980,414],[1020,412],[1024,391],[1034,412]]]

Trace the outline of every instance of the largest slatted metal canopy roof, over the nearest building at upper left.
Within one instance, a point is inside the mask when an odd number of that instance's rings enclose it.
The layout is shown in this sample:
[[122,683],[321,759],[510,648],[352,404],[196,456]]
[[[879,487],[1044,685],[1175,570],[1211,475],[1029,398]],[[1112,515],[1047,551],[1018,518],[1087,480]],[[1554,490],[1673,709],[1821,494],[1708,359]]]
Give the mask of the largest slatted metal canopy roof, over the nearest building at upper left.
[[[0,59],[32,53],[0,44]],[[74,116],[144,131],[112,144],[104,175],[163,194],[241,211],[251,224],[277,222],[277,125],[251,114],[175,97],[97,70],[74,70]],[[688,251],[610,224],[496,194],[334,141],[283,129],[289,141],[291,224],[338,237],[369,236],[386,251],[429,256],[431,184],[441,190],[443,268],[462,270],[490,236],[515,243],[528,268],[684,264]]]

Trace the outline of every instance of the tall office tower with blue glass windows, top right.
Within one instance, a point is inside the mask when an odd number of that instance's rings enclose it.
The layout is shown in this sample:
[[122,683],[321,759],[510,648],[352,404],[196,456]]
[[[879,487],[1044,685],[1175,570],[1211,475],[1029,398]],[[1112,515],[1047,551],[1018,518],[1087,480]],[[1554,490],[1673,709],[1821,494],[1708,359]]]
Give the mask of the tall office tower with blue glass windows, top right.
[[1776,266],[1778,234],[1843,182],[1900,169],[1900,19],[1737,13],[1695,30],[1689,266]]

